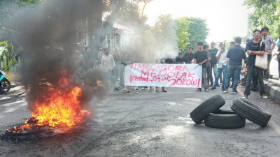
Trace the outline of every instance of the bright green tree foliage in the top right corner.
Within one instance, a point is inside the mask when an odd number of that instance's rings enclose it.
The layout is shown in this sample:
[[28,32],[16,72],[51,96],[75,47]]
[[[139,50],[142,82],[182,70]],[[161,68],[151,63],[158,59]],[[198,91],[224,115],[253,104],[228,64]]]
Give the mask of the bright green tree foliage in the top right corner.
[[244,2],[254,12],[249,15],[250,33],[253,29],[267,26],[269,34],[277,38],[280,33],[280,1],[279,0],[246,0]]

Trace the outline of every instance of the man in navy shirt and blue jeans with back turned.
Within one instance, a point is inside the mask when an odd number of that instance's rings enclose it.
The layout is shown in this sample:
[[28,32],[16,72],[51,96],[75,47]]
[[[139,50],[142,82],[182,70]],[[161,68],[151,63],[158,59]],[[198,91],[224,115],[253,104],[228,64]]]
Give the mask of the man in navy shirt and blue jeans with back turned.
[[240,44],[241,38],[237,37],[235,38],[235,45],[230,47],[228,50],[227,58],[230,59],[230,62],[228,64],[228,71],[225,77],[225,90],[223,91],[223,94],[228,93],[228,85],[230,84],[230,78],[232,77],[234,78],[232,80],[232,94],[237,94],[237,85],[241,72],[242,59],[246,59],[245,50],[240,46]]

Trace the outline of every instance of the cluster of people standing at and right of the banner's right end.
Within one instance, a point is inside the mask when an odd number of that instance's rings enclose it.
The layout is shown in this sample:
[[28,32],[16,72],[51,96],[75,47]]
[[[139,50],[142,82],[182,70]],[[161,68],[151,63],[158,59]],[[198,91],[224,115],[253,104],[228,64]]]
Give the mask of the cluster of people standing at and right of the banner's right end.
[[[279,61],[279,42],[268,35],[269,29],[263,27],[261,30],[253,31],[253,39],[247,40],[246,47],[241,47],[241,38],[235,38],[235,42],[230,43],[230,48],[226,50],[225,43],[220,43],[220,50],[215,48],[216,43],[212,42],[211,47],[202,42],[197,43],[197,52],[193,54],[193,47],[190,47],[185,55],[181,49],[176,57],[176,63],[198,63],[202,66],[202,88],[209,92],[221,87],[223,94],[228,93],[232,87],[232,94],[237,94],[237,86],[245,87],[244,96],[248,98],[252,91],[259,91],[262,98],[267,98],[264,81],[269,79],[269,66],[272,60],[272,50],[278,46],[278,51],[274,54]],[[280,36],[279,36],[280,39]],[[246,54],[248,57],[246,57]],[[259,68],[255,66],[256,56],[267,55],[267,67]],[[280,62],[280,61],[279,61]],[[214,73],[214,78],[213,78]],[[280,63],[279,63],[280,77]],[[220,83],[219,83],[220,81]],[[232,84],[230,85],[230,82]],[[258,87],[259,85],[259,87]],[[196,91],[202,91],[198,88]]]

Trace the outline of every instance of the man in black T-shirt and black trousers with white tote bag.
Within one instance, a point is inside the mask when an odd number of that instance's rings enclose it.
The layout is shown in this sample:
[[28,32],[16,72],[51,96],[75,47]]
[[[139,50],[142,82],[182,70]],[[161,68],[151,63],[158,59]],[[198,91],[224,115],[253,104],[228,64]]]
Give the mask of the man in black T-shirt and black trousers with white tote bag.
[[242,98],[248,98],[248,95],[250,95],[251,79],[254,70],[257,71],[258,80],[260,83],[260,96],[262,96],[262,98],[267,98],[267,96],[265,95],[265,85],[263,84],[263,80],[262,80],[263,70],[262,68],[258,68],[255,66],[256,56],[257,55],[262,56],[265,54],[265,43],[260,42],[259,36],[260,36],[260,30],[255,29],[255,31],[253,31],[254,40],[248,42],[245,48],[245,51],[247,52],[249,57],[247,63],[248,68],[247,68],[246,89],[244,91],[244,96]]

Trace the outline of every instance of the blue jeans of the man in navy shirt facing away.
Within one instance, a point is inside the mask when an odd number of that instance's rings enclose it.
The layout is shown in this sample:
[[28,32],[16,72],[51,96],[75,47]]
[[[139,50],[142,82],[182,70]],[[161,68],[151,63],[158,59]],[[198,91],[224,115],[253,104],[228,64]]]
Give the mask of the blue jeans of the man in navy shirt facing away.
[[230,84],[230,78],[233,77],[234,79],[233,79],[232,91],[237,90],[240,71],[241,71],[241,65],[228,65],[228,72],[225,77],[225,89],[228,89],[228,85]]

